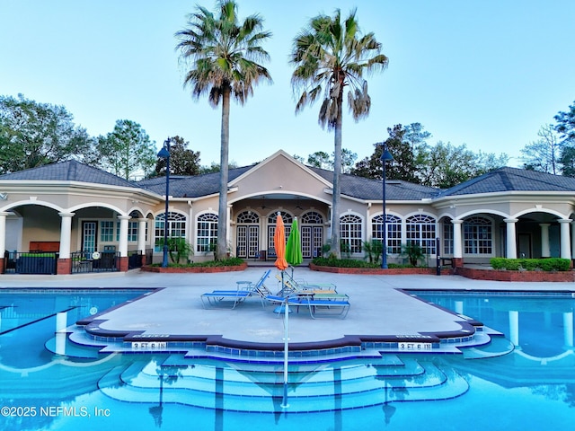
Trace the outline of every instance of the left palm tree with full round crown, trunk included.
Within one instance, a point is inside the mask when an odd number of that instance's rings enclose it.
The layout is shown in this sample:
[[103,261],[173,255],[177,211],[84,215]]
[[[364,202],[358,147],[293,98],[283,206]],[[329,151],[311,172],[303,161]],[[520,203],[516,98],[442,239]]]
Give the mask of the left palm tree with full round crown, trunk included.
[[262,31],[263,19],[258,14],[238,21],[237,4],[233,0],[217,3],[217,13],[197,6],[188,16],[188,24],[175,33],[180,42],[176,50],[181,60],[190,65],[184,86],[192,87],[192,96],[199,99],[208,94],[213,108],[222,102],[219,208],[217,225],[217,259],[226,257],[227,179],[229,152],[230,99],[241,105],[253,94],[253,87],[262,79],[271,82],[268,70],[258,61],[270,56],[260,44],[271,37]]

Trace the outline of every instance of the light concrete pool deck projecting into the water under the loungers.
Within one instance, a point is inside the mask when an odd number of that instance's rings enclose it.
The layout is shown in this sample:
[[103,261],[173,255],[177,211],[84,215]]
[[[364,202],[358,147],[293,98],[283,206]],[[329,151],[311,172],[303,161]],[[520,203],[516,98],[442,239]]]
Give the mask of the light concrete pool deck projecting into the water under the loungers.
[[[213,274],[155,274],[139,270],[128,273],[76,276],[0,276],[0,289],[43,288],[161,288],[133,303],[97,315],[96,332],[137,334],[149,339],[220,339],[229,347],[279,346],[284,321],[274,305],[262,307],[258,298],[248,298],[235,309],[204,309],[200,295],[212,290],[235,289],[236,282],[257,282],[268,268],[249,267],[242,272]],[[270,268],[265,285],[279,290],[278,271]],[[380,276],[329,274],[296,268],[294,276],[308,283],[331,282],[349,295],[345,319],[311,319],[305,307],[289,316],[289,341],[303,348],[344,344],[349,339],[413,339],[421,334],[468,334],[466,321],[454,313],[424,303],[403,289],[575,291],[574,283],[514,283],[472,280],[459,276]],[[471,316],[473,318],[473,316]],[[462,325],[463,323],[463,325]],[[221,344],[221,343],[220,343]],[[307,347],[306,347],[307,346]]]

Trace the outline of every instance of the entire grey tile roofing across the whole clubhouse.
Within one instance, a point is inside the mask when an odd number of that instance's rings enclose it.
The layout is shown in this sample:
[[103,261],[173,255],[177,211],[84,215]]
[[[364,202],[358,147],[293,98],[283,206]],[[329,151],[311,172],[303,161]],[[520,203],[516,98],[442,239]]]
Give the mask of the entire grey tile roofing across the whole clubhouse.
[[[229,180],[235,180],[250,171],[255,164],[229,170]],[[312,172],[332,183],[333,172],[309,167]],[[110,172],[93,168],[74,160],[53,163],[38,168],[0,175],[0,180],[61,180],[105,184],[117,187],[147,189],[158,195],[165,194],[165,177],[137,182],[124,180]],[[219,172],[195,176],[170,177],[170,195],[174,198],[199,198],[217,194]],[[386,198],[393,200],[421,200],[505,191],[566,191],[575,192],[575,178],[519,168],[500,168],[467,180],[451,189],[440,190],[403,180],[387,180]],[[381,180],[370,180],[354,175],[341,175],[341,194],[364,200],[381,200]]]

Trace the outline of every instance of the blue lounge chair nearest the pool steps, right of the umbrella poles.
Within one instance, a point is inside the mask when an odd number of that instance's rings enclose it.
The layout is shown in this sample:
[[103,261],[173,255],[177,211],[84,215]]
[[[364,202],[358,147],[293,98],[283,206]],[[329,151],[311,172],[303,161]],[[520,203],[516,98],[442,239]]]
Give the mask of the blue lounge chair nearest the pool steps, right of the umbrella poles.
[[[275,303],[277,305],[288,301],[288,306],[296,307],[297,311],[299,311],[299,307],[305,306],[309,310],[309,314],[312,319],[333,316],[345,319],[348,315],[349,307],[351,306],[348,295],[336,294],[337,297],[332,296],[332,299],[328,297],[329,294],[323,295],[324,296],[321,299],[315,299],[315,295],[290,295],[288,297],[268,295],[266,296],[266,299],[270,301],[270,303]],[[278,317],[280,314],[281,312],[278,313]]]

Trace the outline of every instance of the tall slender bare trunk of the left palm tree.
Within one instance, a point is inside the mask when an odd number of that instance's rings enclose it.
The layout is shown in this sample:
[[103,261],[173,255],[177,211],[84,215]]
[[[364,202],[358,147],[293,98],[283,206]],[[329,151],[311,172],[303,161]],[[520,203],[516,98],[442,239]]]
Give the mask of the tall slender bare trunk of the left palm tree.
[[230,88],[222,95],[222,130],[219,157],[219,204],[217,209],[216,259],[226,259],[227,246],[227,171],[230,143]]

